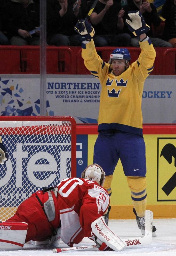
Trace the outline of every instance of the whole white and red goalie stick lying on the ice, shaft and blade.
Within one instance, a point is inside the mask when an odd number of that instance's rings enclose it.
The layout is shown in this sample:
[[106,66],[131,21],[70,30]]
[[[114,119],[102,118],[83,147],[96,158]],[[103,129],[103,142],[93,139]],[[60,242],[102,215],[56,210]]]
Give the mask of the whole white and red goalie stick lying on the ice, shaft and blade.
[[[146,210],[145,212],[145,236],[143,237],[132,237],[128,239],[122,239],[126,244],[124,249],[135,248],[139,246],[149,245],[152,242],[152,228],[153,228],[153,212]],[[85,245],[77,246],[72,248],[56,248],[53,249],[53,253],[59,252],[73,252],[73,251],[87,251],[87,250],[97,250],[100,246],[98,245]]]

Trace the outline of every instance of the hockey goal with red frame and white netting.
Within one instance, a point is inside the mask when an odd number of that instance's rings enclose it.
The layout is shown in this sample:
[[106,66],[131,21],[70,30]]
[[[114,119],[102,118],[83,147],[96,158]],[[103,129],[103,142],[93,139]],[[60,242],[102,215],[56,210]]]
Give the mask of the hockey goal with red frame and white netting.
[[0,220],[37,190],[76,177],[76,122],[69,116],[1,116],[9,155],[0,165]]

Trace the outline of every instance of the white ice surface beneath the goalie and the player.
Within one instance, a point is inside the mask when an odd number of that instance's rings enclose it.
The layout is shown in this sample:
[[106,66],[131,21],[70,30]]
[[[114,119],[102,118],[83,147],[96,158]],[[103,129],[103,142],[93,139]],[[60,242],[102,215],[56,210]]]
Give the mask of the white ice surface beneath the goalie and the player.
[[[153,224],[156,226],[157,237],[153,238],[150,245],[142,248],[123,249],[120,252],[111,251],[76,251],[76,252],[62,252],[54,253],[52,248],[47,249],[45,246],[34,246],[25,244],[24,249],[18,251],[0,251],[0,256],[50,256],[50,255],[66,255],[66,256],[172,256],[176,255],[176,219],[154,219]],[[109,220],[109,228],[119,237],[125,239],[130,237],[140,237],[136,220]],[[84,238],[79,244],[93,245],[89,238]],[[61,243],[60,248],[68,247]],[[76,246],[76,245],[74,245]]]

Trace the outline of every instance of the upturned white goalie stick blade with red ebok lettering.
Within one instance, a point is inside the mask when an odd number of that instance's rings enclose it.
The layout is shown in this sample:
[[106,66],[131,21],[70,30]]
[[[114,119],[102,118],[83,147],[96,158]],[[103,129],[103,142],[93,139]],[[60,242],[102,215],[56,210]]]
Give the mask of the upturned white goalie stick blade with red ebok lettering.
[[153,229],[153,212],[146,210],[145,212],[145,236],[143,237],[130,237],[129,239],[122,239],[125,243],[125,248],[141,247],[151,244],[152,242],[152,229]]

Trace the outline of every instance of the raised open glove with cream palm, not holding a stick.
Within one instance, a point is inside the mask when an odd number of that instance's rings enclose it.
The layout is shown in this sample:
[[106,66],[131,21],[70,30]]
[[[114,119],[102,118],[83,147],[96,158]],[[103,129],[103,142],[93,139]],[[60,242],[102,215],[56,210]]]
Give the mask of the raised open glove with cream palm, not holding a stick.
[[140,36],[150,30],[139,11],[128,12],[128,16],[131,20],[126,19],[125,23],[135,36]]

